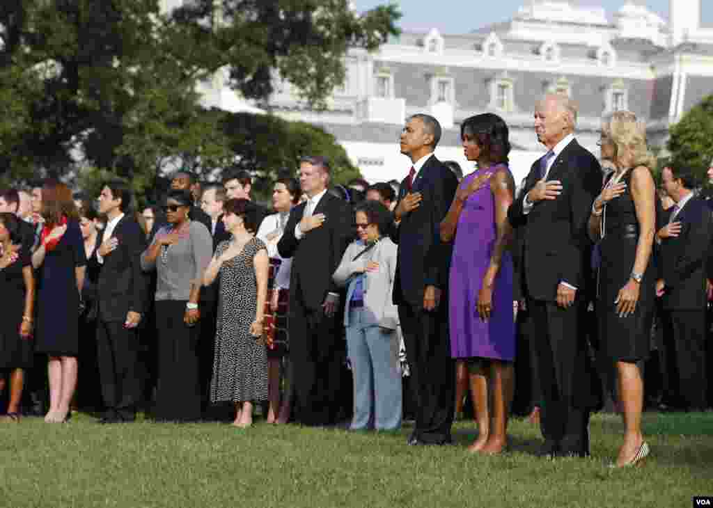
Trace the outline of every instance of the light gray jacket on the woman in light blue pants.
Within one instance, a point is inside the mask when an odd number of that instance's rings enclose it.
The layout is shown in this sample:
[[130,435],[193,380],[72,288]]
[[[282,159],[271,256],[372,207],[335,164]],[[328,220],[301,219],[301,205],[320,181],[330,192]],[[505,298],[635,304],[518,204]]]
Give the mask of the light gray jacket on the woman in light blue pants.
[[339,287],[347,286],[347,311],[344,312],[344,326],[349,326],[349,301],[354,293],[356,276],[359,269],[364,269],[369,261],[379,263],[379,270],[364,272],[364,314],[366,322],[396,330],[399,325],[399,313],[392,303],[394,278],[396,277],[396,244],[388,237],[381,238],[376,247],[359,259],[352,261],[359,252],[366,248],[364,242],[356,240],[347,247],[332,279]]

